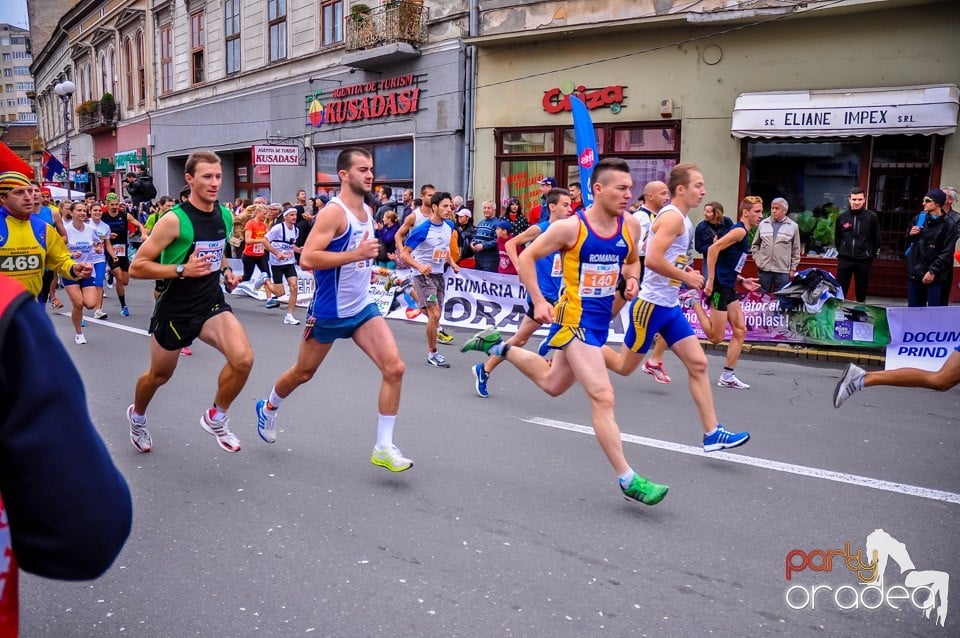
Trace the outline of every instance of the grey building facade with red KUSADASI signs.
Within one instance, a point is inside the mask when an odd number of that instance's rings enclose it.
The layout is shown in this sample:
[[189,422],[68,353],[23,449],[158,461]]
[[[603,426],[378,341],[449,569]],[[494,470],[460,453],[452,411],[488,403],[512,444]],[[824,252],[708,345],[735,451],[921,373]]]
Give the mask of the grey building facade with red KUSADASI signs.
[[[175,193],[187,156],[216,151],[222,197],[292,201],[339,186],[336,155],[374,155],[377,185],[463,177],[460,2],[155,2],[155,183]],[[256,152],[255,152],[256,151]]]

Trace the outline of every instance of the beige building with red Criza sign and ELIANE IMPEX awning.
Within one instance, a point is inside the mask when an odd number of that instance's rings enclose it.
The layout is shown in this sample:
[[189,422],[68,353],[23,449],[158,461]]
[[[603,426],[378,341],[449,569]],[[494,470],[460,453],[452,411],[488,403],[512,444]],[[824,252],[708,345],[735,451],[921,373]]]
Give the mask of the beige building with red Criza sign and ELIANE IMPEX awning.
[[[729,4],[484,8],[470,40],[480,49],[474,197],[519,196],[529,208],[538,179],[577,180],[566,95],[579,90],[601,155],[627,159],[638,194],[679,161],[699,164],[708,200],[733,216],[758,194],[825,217],[862,185],[880,214],[881,257],[902,279],[909,217],[931,185],[960,183],[955,4]],[[896,294],[874,279],[872,294]]]

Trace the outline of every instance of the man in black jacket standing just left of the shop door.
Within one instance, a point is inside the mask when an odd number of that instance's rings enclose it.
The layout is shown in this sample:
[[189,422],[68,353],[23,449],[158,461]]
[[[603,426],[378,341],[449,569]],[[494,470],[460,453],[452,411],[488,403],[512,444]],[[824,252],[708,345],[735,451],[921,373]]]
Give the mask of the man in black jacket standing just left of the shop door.
[[873,258],[880,247],[880,220],[867,210],[863,188],[850,189],[850,208],[837,216],[833,239],[837,247],[837,280],[843,294],[849,296],[850,280],[856,277],[856,299],[867,299],[867,284]]

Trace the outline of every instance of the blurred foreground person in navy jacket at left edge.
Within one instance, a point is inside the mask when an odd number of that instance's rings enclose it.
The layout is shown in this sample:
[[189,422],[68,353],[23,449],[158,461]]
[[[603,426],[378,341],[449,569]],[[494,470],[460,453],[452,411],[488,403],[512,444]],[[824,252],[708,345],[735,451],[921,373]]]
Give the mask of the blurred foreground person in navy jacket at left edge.
[[[50,370],[57,383],[39,383]],[[15,636],[18,564],[46,578],[97,578],[130,533],[133,504],[43,306],[4,275],[0,400],[0,636]]]

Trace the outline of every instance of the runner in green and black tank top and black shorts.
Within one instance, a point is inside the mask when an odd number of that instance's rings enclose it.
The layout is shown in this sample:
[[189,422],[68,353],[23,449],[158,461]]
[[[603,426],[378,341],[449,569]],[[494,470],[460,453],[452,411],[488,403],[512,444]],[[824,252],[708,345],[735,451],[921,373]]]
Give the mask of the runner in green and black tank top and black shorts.
[[163,280],[150,319],[150,368],[137,380],[133,404],[127,408],[130,442],[138,452],[152,449],[147,407],[173,376],[182,349],[199,338],[226,359],[200,427],[221,449],[239,452],[240,441],[230,430],[227,410],[250,376],[253,348],[220,288],[221,274],[227,290],[240,283],[223,262],[233,215],[218,197],[223,183],[220,158],[212,151],[191,153],[184,179],[190,187],[187,201],[157,221],[130,264],[130,274],[137,279]]

